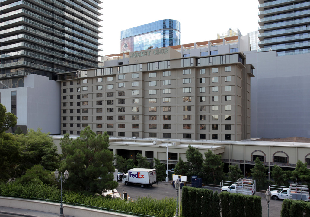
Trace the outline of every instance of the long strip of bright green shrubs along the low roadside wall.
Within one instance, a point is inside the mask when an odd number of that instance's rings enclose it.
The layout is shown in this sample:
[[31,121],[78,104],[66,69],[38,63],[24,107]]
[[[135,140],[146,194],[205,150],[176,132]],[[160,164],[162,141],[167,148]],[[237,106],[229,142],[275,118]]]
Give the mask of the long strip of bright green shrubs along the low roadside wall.
[[[22,198],[44,198],[49,200],[60,200],[60,190],[46,184],[17,184],[10,182],[0,184],[0,195],[19,196]],[[151,197],[137,198],[134,202],[121,199],[110,199],[100,196],[85,196],[75,192],[63,192],[64,203],[84,204],[88,206],[102,207],[112,210],[120,210],[135,214],[150,215],[156,217],[171,217],[175,215],[176,201],[173,198],[162,200]]]

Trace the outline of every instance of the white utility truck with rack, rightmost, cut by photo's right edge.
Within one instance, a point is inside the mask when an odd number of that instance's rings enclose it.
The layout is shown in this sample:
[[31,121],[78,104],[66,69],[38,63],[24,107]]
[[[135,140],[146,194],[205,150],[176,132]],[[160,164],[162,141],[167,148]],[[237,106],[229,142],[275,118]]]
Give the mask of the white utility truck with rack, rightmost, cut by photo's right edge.
[[269,185],[271,197],[277,199],[293,199],[309,201],[308,185],[290,184],[290,186]]

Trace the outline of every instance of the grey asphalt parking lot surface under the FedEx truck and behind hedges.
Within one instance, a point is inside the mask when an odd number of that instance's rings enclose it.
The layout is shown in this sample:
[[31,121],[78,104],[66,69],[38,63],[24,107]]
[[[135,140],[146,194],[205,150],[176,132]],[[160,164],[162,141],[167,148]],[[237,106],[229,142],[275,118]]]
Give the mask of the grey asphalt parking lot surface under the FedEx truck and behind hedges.
[[[187,186],[191,186],[190,183]],[[220,193],[220,188],[203,186],[203,188],[207,188],[213,190],[213,192],[218,191]],[[141,188],[139,184],[128,185],[126,186],[121,181],[118,182],[117,187],[118,192],[126,191],[128,196],[131,199],[135,200],[138,197],[147,197],[151,196],[156,199],[163,199],[166,197],[176,197],[176,190],[172,187],[171,183],[166,182],[158,182],[158,185],[154,184],[149,188]],[[182,189],[180,189],[182,193]],[[262,216],[267,216],[267,202],[264,193],[255,193],[255,195],[262,197]],[[269,203],[269,216],[280,217],[282,200],[272,200]]]

